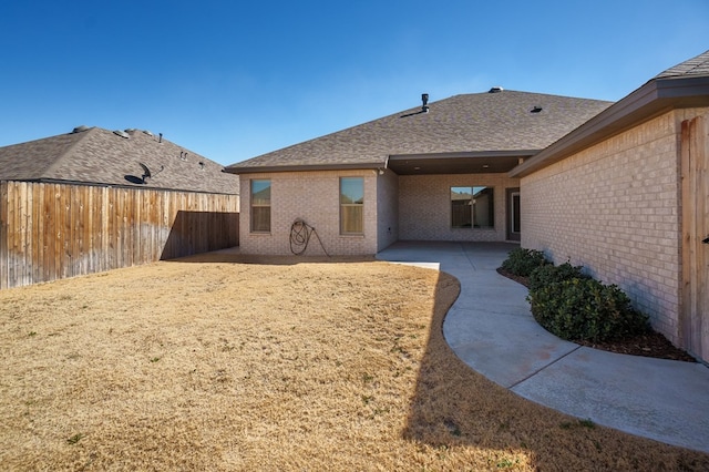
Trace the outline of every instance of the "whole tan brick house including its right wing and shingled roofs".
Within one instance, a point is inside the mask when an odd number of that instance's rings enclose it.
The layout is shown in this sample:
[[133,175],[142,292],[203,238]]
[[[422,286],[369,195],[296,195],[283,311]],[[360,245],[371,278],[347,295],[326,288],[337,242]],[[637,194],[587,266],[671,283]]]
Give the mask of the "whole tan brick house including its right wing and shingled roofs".
[[297,218],[339,255],[521,240],[617,284],[709,360],[709,51],[616,103],[501,88],[422,100],[228,166],[242,252],[289,254]]

